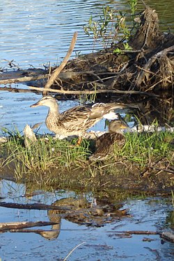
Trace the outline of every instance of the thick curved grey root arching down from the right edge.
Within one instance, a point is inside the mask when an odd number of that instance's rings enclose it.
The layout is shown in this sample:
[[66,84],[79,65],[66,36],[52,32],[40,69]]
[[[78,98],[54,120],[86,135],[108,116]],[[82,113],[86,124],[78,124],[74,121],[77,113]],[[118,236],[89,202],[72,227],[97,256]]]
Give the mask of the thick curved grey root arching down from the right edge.
[[172,45],[171,47],[168,47],[166,49],[163,49],[162,51],[158,52],[157,54],[155,54],[154,56],[152,56],[149,60],[148,63],[145,63],[144,67],[143,67],[143,71],[139,74],[139,77],[136,81],[136,85],[139,86],[141,84],[141,82],[143,81],[144,75],[145,75],[145,71],[149,70],[150,66],[152,65],[152,63],[155,62],[155,60],[164,54],[167,54],[168,52],[172,52],[174,50],[174,45]]

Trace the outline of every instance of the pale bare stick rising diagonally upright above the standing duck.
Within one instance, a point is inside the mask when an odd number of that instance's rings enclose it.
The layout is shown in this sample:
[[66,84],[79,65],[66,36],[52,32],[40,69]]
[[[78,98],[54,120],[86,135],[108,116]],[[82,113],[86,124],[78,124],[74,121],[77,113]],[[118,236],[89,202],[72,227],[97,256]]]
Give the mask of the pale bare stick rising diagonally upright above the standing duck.
[[51,77],[47,81],[47,84],[45,84],[45,90],[43,90],[43,94],[45,94],[47,89],[49,89],[50,86],[52,86],[54,84],[56,77],[58,77],[58,74],[61,72],[61,70],[63,70],[63,68],[67,64],[67,62],[68,62],[68,60],[69,60],[69,58],[72,54],[72,51],[74,49],[74,45],[76,43],[76,40],[77,40],[77,32],[75,32],[73,37],[72,37],[70,48],[68,49],[68,52],[67,52],[65,58],[63,59],[61,65],[58,68],[56,68],[56,70],[52,73]]

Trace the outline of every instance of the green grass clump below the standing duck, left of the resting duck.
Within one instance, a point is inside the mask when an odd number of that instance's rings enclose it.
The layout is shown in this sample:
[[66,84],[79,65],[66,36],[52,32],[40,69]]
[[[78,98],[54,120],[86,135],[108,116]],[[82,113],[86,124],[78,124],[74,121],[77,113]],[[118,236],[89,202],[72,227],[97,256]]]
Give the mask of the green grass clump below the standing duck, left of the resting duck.
[[[15,175],[22,178],[28,172],[48,171],[50,168],[66,168],[79,166],[79,162],[86,160],[88,155],[88,142],[84,141],[80,146],[60,141],[52,136],[38,137],[38,141],[25,147],[24,137],[18,133],[10,134],[6,145],[7,155],[10,161],[15,162]],[[85,143],[85,145],[84,145]]]

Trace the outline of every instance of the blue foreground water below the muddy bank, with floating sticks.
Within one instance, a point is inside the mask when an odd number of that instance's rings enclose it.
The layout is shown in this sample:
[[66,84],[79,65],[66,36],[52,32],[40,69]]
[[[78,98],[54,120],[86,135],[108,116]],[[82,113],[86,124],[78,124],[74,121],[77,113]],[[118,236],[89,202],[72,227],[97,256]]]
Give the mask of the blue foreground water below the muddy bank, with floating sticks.
[[[52,204],[60,198],[77,197],[72,191],[40,191],[37,196],[23,197],[26,187],[6,180],[1,181],[0,193],[3,201],[13,203]],[[92,200],[91,195],[86,195]],[[116,203],[116,202],[115,202]],[[172,207],[161,198],[144,200],[125,200],[122,209],[129,209],[129,217],[123,217],[100,228],[78,225],[61,219],[58,237],[45,239],[35,233],[0,234],[0,257],[2,260],[63,260],[75,246],[79,246],[69,260],[173,260],[173,244],[161,244],[158,235],[132,235],[122,237],[117,231],[149,230],[161,231],[168,228],[166,221]],[[0,207],[0,222],[49,221],[46,210],[8,209]],[[50,230],[50,227],[38,229]],[[149,239],[148,242],[146,239]],[[146,240],[146,241],[145,241]]]

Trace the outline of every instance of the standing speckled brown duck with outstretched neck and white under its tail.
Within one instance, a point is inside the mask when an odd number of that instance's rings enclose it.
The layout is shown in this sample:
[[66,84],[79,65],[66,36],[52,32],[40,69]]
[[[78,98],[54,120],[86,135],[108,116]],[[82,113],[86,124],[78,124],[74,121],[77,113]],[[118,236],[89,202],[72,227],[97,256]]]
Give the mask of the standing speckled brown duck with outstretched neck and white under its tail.
[[89,104],[74,106],[63,113],[59,113],[58,103],[51,95],[44,96],[31,105],[31,107],[36,106],[49,107],[45,123],[50,131],[59,134],[61,137],[82,136],[87,129],[102,118],[116,118],[116,113],[113,112],[114,109],[127,107],[126,104],[122,103],[97,103],[92,106]]

